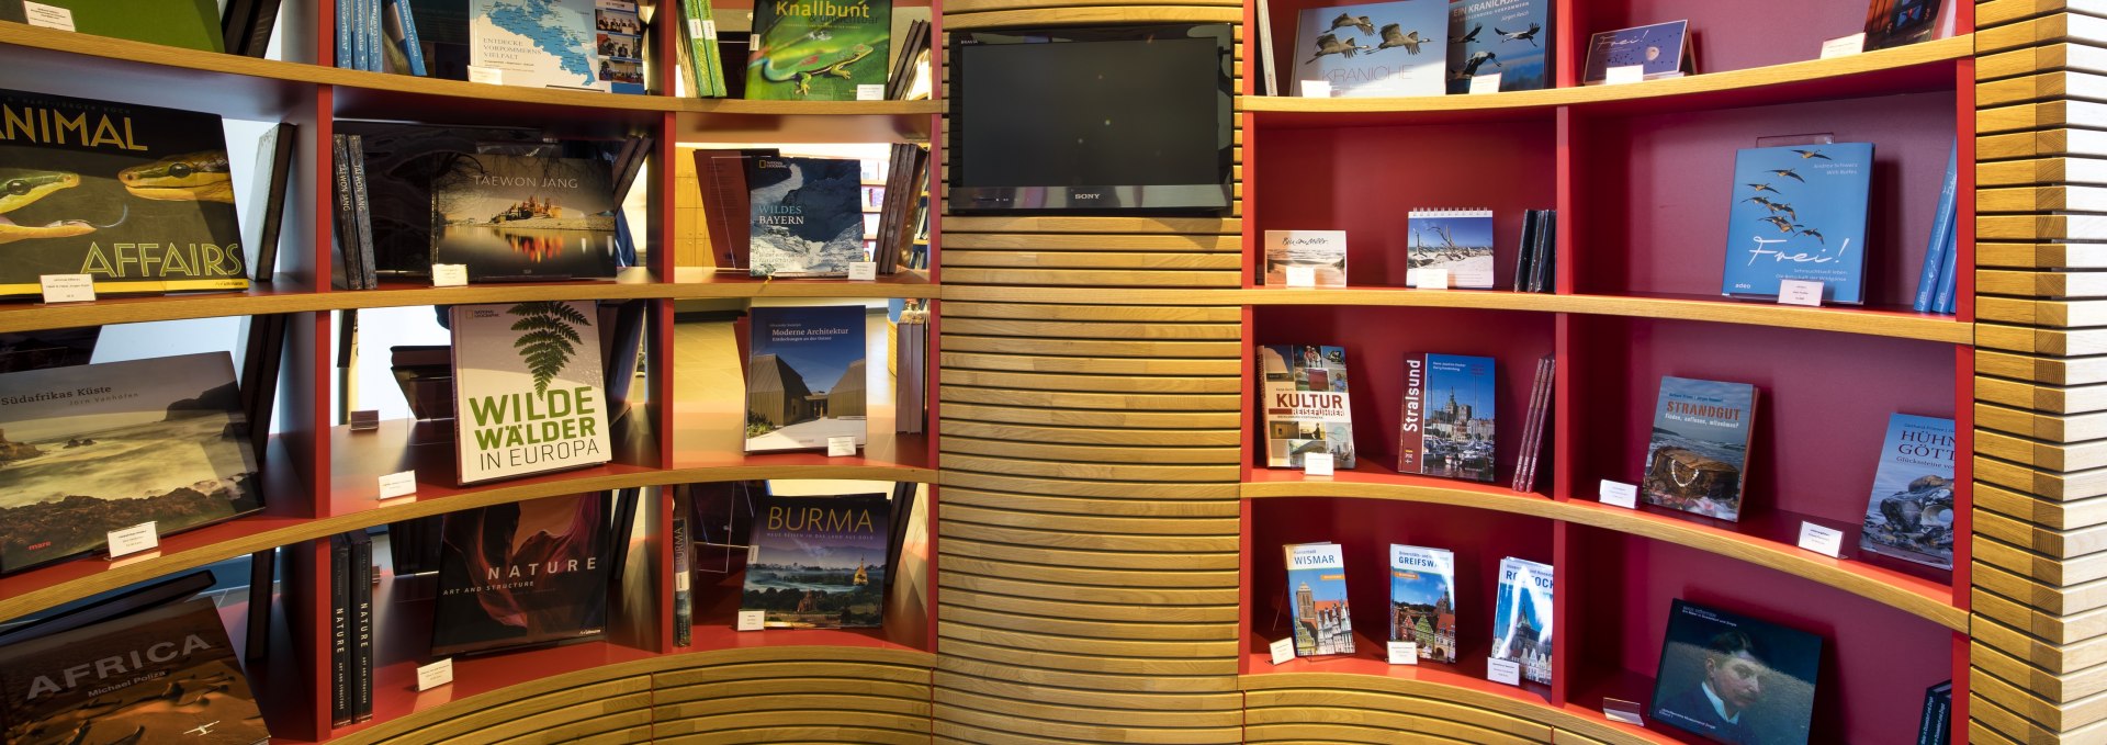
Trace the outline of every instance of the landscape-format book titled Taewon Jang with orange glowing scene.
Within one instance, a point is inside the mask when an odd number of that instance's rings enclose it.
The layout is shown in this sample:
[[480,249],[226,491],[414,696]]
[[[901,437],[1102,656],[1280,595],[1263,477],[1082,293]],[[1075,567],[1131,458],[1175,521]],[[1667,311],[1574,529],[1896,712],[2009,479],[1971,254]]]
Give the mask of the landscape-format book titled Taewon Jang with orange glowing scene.
[[474,282],[609,280],[622,267],[607,160],[468,156],[432,177],[432,263]]

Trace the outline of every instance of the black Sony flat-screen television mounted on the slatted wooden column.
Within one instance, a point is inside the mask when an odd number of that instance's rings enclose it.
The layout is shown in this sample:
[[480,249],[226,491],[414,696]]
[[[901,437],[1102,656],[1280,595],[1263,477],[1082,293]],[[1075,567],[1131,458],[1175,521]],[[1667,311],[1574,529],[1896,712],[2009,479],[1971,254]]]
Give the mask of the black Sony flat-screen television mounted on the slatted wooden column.
[[1228,210],[1226,23],[954,32],[950,210]]

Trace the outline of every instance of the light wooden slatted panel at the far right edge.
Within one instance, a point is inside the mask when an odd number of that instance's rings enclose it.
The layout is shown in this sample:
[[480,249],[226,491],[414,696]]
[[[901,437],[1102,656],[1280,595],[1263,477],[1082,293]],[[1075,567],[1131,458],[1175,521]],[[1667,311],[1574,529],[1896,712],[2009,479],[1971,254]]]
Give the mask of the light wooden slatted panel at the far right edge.
[[[2073,13],[2071,6],[2090,6]],[[1968,734],[2107,741],[2107,76],[2096,4],[1976,4],[1976,381]]]

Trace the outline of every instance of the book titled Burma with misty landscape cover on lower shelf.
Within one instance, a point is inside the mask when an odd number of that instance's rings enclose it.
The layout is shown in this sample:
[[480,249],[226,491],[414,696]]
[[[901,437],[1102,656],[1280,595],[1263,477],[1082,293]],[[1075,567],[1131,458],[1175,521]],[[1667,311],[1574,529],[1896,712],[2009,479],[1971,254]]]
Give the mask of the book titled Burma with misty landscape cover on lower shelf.
[[771,629],[877,627],[885,619],[885,495],[763,495],[742,610]]

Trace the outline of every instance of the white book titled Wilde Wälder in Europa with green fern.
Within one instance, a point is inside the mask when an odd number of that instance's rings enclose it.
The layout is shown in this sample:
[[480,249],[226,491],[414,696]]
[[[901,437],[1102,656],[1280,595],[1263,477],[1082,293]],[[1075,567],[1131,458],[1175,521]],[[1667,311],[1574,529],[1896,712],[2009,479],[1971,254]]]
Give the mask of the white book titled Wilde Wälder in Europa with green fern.
[[453,307],[461,484],[611,459],[592,301]]

